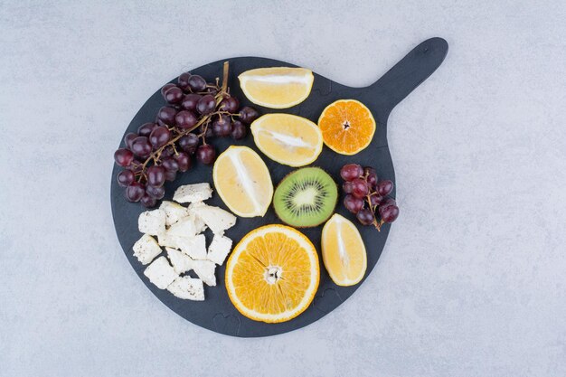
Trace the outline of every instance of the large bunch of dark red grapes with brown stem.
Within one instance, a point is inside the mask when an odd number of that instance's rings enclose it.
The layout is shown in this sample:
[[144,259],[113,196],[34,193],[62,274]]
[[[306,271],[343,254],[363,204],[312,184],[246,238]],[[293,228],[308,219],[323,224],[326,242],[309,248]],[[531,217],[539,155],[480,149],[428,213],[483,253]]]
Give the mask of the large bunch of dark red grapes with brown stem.
[[203,77],[184,72],[177,83],[161,89],[167,105],[159,108],[155,122],[145,123],[137,133],[124,137],[125,147],[114,153],[118,184],[126,187],[129,202],[153,207],[165,195],[165,181],[174,181],[178,172],[193,165],[192,156],[205,165],[216,159],[212,137],[246,137],[249,125],[259,113],[240,107],[227,87],[228,63],[224,63],[222,86],[218,79],[207,83]]

